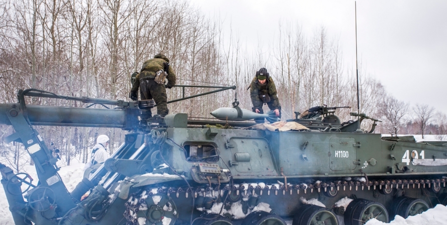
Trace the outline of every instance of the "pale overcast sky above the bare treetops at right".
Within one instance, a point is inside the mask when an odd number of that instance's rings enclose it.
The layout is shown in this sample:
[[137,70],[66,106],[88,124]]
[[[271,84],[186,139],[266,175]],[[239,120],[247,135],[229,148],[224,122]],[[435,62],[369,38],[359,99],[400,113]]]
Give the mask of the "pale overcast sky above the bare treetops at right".
[[[324,26],[355,65],[354,0],[191,0],[224,19],[248,49],[273,42],[280,20],[312,36]],[[275,33],[276,32],[276,33]],[[447,0],[358,0],[359,60],[397,99],[447,114]]]

